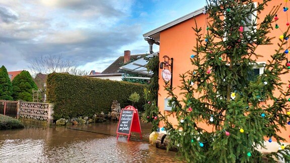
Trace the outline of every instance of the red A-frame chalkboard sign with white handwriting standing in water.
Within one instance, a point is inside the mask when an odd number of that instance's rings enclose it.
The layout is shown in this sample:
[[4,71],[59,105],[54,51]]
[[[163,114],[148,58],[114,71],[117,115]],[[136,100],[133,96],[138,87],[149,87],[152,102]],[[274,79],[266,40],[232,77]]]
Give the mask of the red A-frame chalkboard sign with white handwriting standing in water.
[[127,141],[129,141],[131,132],[138,132],[142,140],[138,110],[132,106],[126,106],[124,109],[121,110],[117,128],[117,140],[119,134],[122,134],[127,135]]

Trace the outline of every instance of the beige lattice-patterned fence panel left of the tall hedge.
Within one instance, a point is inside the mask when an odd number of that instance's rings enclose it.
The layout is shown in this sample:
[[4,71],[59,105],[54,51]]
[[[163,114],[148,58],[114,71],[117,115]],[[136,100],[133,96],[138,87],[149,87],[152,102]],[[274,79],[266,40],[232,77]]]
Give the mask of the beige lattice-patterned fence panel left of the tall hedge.
[[20,118],[48,121],[48,103],[20,103]]

